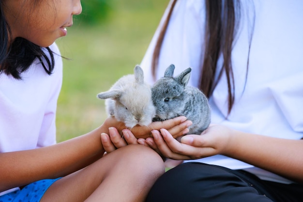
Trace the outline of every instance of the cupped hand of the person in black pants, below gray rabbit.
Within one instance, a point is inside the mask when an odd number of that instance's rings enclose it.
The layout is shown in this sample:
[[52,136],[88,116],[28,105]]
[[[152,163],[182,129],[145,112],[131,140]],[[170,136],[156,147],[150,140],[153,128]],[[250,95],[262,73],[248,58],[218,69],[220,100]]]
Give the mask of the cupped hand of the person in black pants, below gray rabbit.
[[212,125],[201,135],[186,135],[181,142],[175,140],[166,130],[152,131],[153,141],[146,141],[156,147],[162,155],[175,160],[198,159],[207,156],[224,154],[232,137],[232,129],[222,125]]

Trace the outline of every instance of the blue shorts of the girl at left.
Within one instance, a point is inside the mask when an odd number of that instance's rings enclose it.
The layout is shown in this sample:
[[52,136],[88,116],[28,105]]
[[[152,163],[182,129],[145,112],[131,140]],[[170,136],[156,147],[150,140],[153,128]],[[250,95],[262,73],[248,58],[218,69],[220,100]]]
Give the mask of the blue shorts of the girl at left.
[[48,187],[59,179],[46,179],[31,183],[21,190],[0,196],[0,202],[40,202]]

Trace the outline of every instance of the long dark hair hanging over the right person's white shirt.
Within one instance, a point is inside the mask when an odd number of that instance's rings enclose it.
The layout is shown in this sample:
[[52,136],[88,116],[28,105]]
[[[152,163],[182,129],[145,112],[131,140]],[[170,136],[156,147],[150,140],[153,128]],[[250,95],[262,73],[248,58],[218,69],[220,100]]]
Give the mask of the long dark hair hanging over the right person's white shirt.
[[[171,17],[172,11],[177,0],[173,0],[167,19],[160,30],[159,37],[152,55],[152,76],[155,78],[155,73],[158,66],[161,46],[165,37],[165,32]],[[205,39],[205,52],[202,53],[204,58],[200,65],[199,89],[208,97],[218,82],[215,80],[215,72],[217,71],[217,62],[220,55],[223,56],[223,66],[219,70],[219,78],[223,72],[226,73],[228,87],[228,113],[230,113],[234,99],[234,76],[231,65],[231,50],[239,29],[239,21],[241,17],[240,0],[205,0],[206,3],[206,25],[205,35],[201,36]],[[253,24],[254,26],[254,24]],[[252,33],[251,33],[252,34]],[[252,37],[252,35],[251,35]],[[250,38],[250,43],[251,43]],[[250,51],[250,44],[249,50]],[[249,53],[249,52],[248,52]],[[247,59],[246,78],[248,72],[249,60]],[[245,86],[244,86],[245,87]]]

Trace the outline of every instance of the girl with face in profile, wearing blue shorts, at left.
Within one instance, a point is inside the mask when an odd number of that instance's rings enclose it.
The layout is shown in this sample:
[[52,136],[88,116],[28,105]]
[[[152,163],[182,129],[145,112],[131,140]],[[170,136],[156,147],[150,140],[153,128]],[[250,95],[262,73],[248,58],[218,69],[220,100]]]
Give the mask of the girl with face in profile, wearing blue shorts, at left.
[[[104,155],[101,134],[123,129],[114,118],[56,144],[62,61],[54,41],[81,11],[80,0],[0,1],[1,202],[139,202],[164,172],[160,156],[141,145]],[[182,132],[183,121],[151,127]]]

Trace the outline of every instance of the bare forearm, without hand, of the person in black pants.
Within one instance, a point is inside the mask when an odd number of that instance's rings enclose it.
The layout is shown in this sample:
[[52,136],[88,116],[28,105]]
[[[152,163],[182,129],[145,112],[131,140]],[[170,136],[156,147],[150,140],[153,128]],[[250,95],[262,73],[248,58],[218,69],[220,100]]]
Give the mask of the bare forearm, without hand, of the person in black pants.
[[303,141],[235,131],[224,155],[303,182]]

